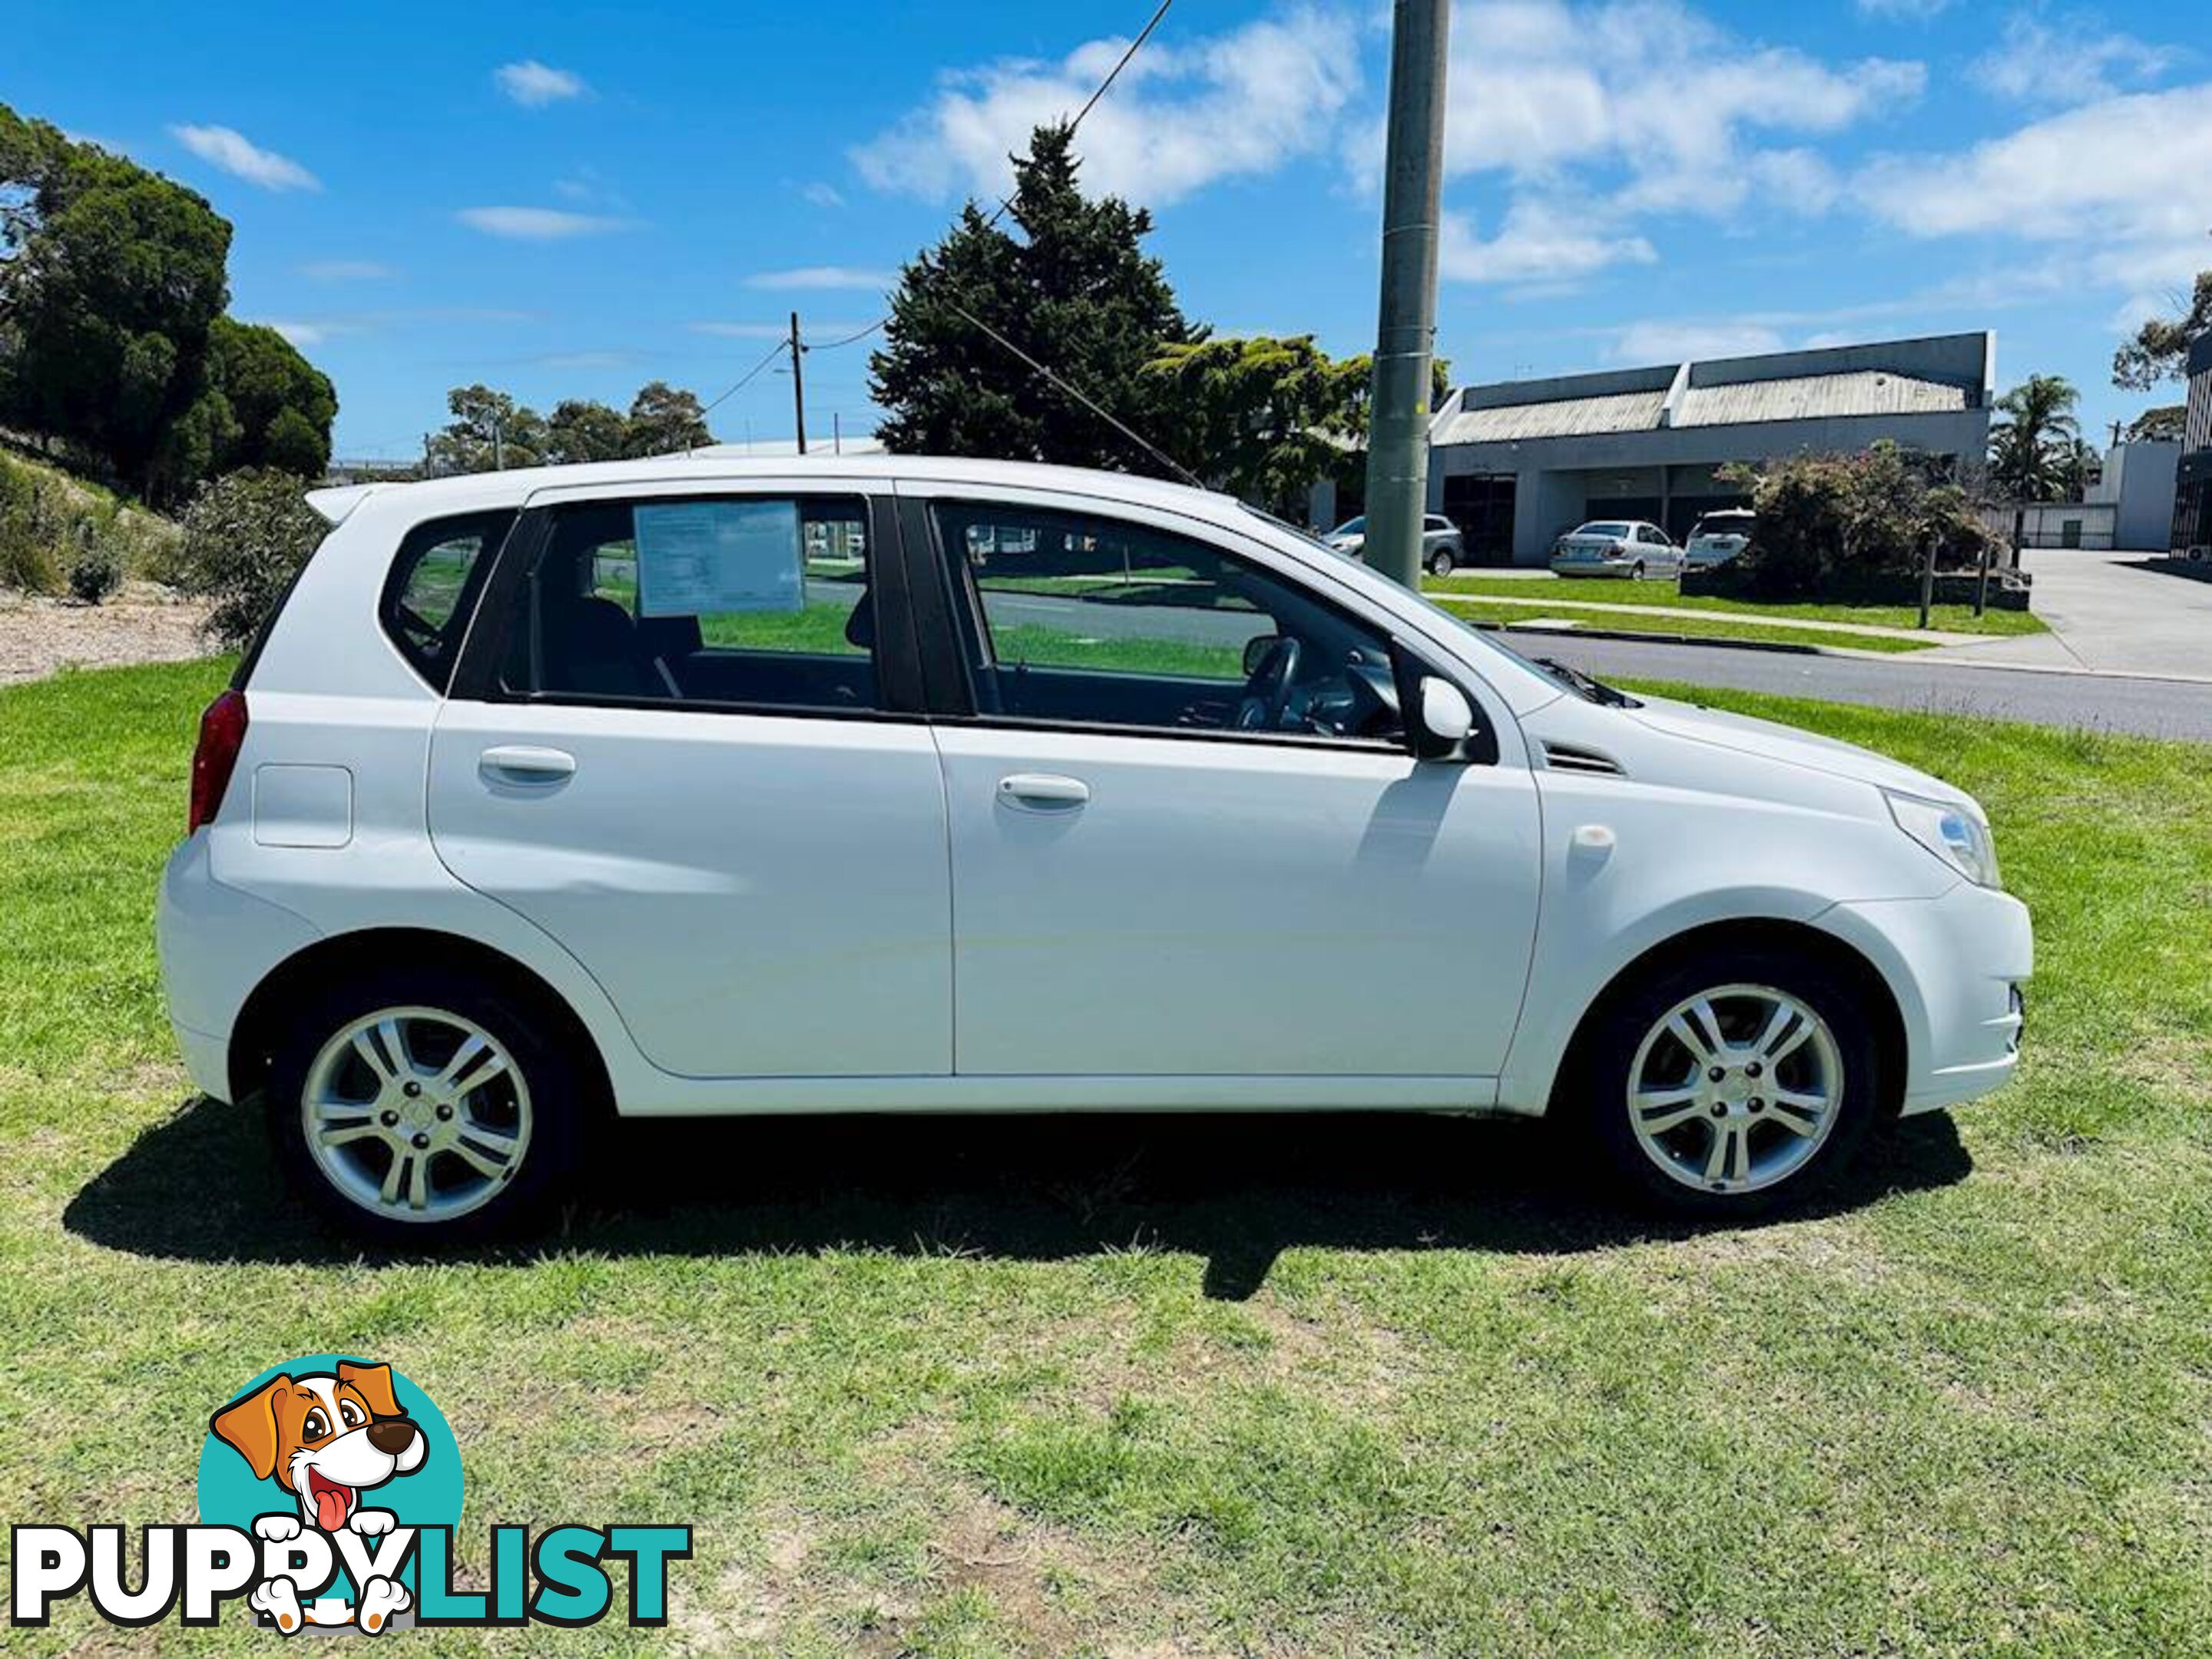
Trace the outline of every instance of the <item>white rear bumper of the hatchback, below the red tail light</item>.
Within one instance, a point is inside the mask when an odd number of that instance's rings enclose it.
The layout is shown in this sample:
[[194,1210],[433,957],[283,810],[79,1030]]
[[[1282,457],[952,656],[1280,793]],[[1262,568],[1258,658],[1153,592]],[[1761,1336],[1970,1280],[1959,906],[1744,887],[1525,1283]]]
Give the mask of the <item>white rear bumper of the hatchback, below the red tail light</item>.
[[208,869],[208,832],[179,843],[161,872],[155,940],[161,991],[192,1082],[230,1099],[230,1029],[261,980],[321,933],[281,905],[241,894]]

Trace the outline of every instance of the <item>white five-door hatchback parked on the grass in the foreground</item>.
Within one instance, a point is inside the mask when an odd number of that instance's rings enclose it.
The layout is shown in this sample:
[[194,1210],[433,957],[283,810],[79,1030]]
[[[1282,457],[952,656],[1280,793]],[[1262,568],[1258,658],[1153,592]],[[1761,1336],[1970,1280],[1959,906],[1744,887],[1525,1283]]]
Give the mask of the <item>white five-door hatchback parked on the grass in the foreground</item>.
[[161,962],[195,1082],[372,1232],[515,1219],[611,1113],[1555,1113],[1736,1214],[2013,1073],[1971,799],[1230,498],[692,456],[312,500]]

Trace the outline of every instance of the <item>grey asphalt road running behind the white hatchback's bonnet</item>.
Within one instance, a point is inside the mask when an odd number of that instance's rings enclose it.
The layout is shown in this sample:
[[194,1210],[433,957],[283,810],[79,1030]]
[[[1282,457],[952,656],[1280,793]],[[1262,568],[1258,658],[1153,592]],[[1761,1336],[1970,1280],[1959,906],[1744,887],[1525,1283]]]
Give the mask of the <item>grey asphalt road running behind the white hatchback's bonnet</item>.
[[2117,675],[1960,668],[1911,657],[1803,657],[1725,646],[1515,635],[1528,657],[1557,657],[1599,679],[1679,679],[1692,686],[1825,697],[1836,703],[1989,714],[2035,726],[2079,726],[2212,743],[2212,686]]

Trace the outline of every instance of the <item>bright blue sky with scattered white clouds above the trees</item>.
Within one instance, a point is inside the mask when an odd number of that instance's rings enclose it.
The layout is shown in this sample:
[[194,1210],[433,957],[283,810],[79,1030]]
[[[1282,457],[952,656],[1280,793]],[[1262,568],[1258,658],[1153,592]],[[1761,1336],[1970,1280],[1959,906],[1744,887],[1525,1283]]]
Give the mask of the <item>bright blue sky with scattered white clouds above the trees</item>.
[[[790,310],[880,314],[1148,0],[929,7],[11,7],[0,100],[237,226],[232,310],[405,456],[445,389],[714,396]],[[1183,307],[1371,345],[1380,0],[1179,0],[1082,135]],[[1462,380],[1997,330],[2090,429],[2119,334],[2212,265],[2212,46],[2183,4],[1462,4],[1440,349]],[[2199,44],[2188,38],[2197,35]],[[865,345],[810,425],[869,425]],[[790,434],[790,380],[714,411]]]

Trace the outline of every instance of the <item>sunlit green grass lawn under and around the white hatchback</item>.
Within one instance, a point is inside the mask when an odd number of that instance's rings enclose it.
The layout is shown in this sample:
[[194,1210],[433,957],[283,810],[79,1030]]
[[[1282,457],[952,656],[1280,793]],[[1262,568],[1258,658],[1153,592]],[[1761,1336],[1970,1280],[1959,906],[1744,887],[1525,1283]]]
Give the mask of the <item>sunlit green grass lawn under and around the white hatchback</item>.
[[409,1650],[2203,1652],[2208,750],[1708,695],[1975,790],[2037,918],[2020,1082],[1805,1219],[1621,1221],[1449,1119],[721,1124],[624,1135],[540,1248],[387,1259],[161,1024],[226,670],[0,690],[7,1520],[192,1520],[208,1411],[352,1349],[451,1418],[467,1571],[697,1528],[666,1632]]

